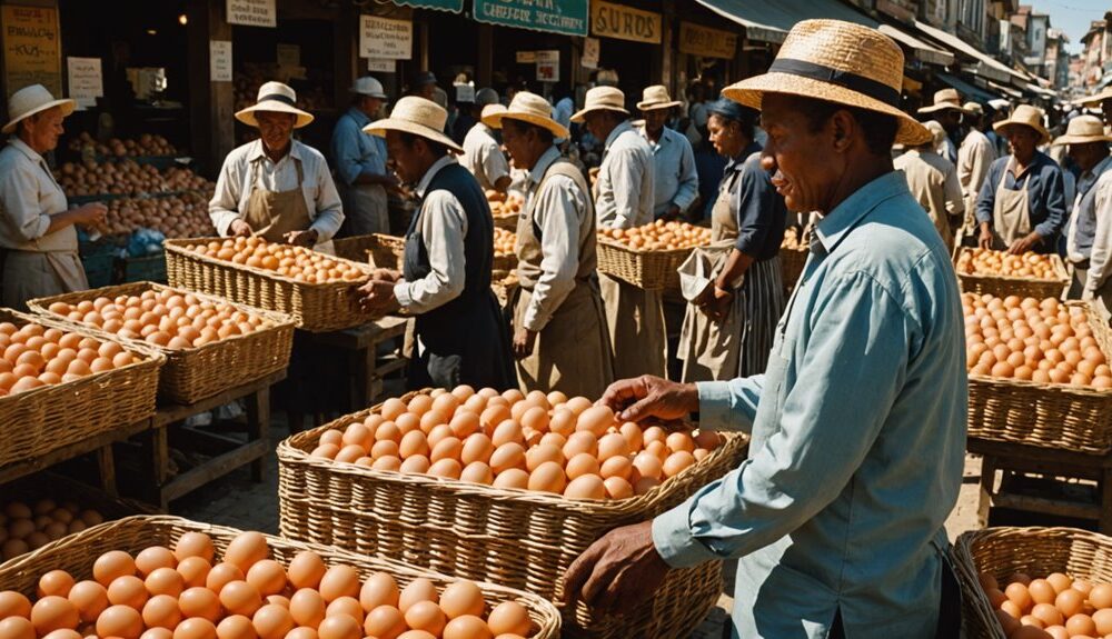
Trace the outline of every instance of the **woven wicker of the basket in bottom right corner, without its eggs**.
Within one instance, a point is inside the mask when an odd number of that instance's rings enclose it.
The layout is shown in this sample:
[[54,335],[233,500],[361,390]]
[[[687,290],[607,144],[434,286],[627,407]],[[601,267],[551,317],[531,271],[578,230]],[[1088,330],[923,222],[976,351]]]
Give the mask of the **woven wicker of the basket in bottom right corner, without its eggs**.
[[987,528],[957,538],[952,550],[962,587],[969,639],[1005,639],[987,596],[977,582],[985,572],[1003,581],[1015,572],[1064,572],[1075,579],[1112,583],[1112,539],[1074,528]]

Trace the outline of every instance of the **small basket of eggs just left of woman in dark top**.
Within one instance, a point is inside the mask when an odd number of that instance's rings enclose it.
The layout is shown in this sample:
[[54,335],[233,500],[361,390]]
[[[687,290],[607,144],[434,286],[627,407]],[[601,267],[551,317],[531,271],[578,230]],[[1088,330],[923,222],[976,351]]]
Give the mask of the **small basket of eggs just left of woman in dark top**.
[[655,222],[632,229],[598,230],[598,272],[645,290],[678,290],[692,249],[711,243],[711,229],[686,222]]

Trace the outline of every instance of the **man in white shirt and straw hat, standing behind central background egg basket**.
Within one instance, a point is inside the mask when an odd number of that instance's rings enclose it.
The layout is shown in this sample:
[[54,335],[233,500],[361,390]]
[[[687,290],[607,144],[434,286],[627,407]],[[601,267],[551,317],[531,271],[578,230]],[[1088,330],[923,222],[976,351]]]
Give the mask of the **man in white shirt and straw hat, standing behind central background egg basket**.
[[[605,140],[595,178],[599,228],[632,229],[653,221],[653,149],[629,123],[625,94],[614,87],[587,91],[583,110],[572,116]],[[664,375],[667,338],[659,291],[648,291],[599,273],[617,378]]]

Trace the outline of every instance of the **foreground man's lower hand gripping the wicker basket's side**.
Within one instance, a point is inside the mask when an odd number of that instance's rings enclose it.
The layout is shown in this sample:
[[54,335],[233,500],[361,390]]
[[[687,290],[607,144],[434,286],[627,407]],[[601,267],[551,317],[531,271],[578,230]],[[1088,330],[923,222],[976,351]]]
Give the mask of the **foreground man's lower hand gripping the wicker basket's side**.
[[599,612],[633,615],[668,575],[653,545],[653,522],[615,528],[564,573],[564,603],[576,599]]

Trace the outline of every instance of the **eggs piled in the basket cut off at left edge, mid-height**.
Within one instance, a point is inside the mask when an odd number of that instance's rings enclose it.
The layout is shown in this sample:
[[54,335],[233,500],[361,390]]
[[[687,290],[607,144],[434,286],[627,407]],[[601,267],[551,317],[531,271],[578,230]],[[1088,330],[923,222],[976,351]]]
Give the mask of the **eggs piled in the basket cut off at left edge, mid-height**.
[[117,342],[47,328],[0,322],[0,397],[76,381],[136,361]]

